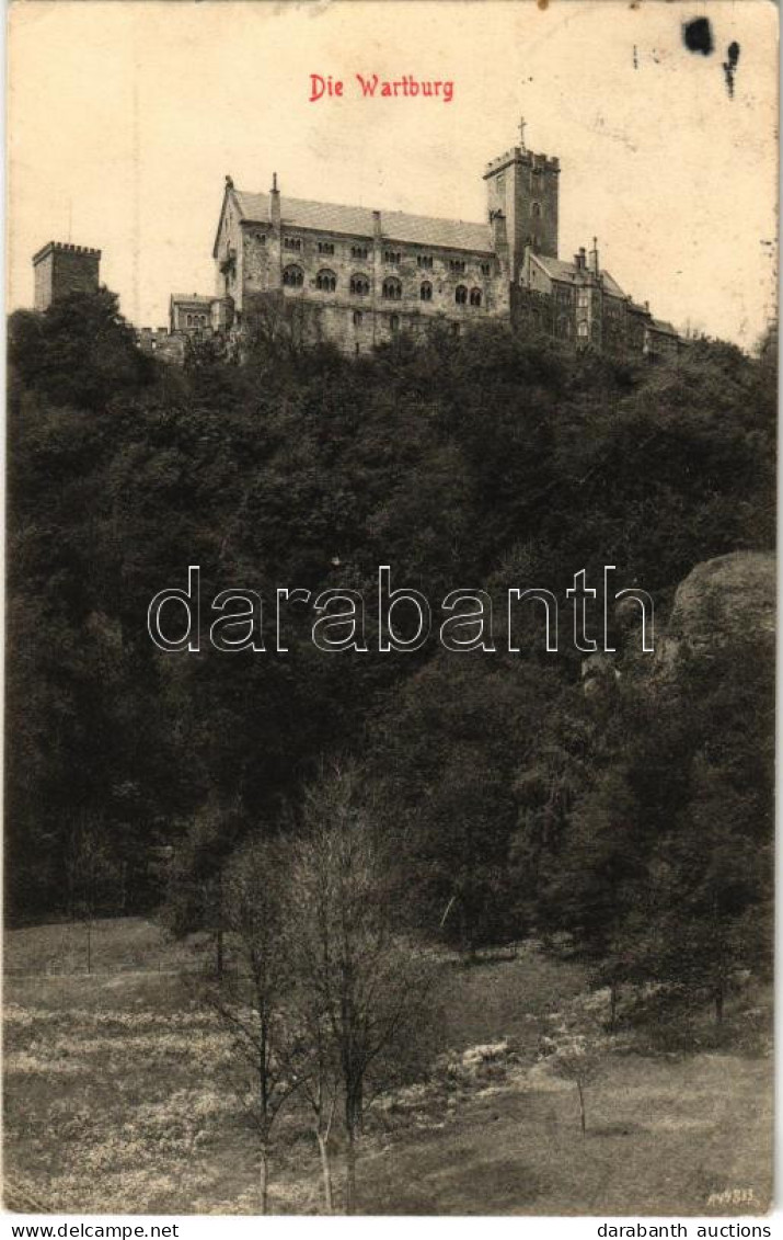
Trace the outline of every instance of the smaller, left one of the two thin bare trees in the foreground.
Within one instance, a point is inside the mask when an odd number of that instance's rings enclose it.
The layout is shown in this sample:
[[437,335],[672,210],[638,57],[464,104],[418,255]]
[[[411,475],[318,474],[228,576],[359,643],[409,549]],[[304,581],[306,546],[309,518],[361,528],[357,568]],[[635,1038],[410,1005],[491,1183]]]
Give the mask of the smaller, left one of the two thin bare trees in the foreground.
[[285,856],[252,841],[223,877],[228,941],[237,975],[207,991],[207,1001],[232,1038],[233,1084],[259,1145],[261,1213],[269,1210],[269,1164],[275,1121],[299,1087],[286,1053],[285,994],[290,968],[284,940]]

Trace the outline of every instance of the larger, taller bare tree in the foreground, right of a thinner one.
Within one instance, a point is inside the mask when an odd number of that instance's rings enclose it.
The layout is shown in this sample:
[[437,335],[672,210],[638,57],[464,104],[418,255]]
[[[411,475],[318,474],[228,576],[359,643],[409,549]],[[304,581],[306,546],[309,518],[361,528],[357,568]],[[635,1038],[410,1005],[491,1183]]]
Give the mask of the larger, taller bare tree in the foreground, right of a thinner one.
[[299,985],[339,1066],[348,1214],[364,1114],[394,1079],[430,985],[421,957],[394,934],[390,856],[362,785],[346,765],[308,790],[292,872]]

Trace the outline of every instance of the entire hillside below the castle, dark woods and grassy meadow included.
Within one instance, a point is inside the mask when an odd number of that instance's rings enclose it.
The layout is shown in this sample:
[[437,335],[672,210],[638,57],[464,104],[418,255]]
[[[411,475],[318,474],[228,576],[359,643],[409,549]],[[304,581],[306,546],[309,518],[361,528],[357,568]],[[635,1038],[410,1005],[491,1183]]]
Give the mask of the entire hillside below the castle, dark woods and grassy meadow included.
[[21,1208],[766,1207],[772,346],[11,317]]

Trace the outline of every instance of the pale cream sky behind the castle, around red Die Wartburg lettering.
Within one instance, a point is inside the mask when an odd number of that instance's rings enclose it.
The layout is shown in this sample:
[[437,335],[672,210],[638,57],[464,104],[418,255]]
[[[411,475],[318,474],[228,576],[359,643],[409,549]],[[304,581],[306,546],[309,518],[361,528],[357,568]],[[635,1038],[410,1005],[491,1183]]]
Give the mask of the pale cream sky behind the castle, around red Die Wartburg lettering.
[[[683,24],[706,16],[711,55]],[[680,329],[752,347],[774,304],[771,0],[37,0],[11,7],[9,308],[48,241],[103,250],[134,324],[212,293],[230,174],[282,195],[481,221],[518,141],[560,157],[560,255]],[[724,62],[738,61],[730,94]],[[344,82],[308,100],[311,74]],[[453,82],[363,99],[356,74]]]

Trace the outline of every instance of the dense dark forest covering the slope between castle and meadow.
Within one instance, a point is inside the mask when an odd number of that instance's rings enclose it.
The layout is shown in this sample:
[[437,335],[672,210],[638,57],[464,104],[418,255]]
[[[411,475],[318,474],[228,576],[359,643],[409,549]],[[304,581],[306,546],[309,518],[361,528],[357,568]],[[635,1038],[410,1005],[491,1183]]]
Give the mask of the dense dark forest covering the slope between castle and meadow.
[[207,600],[373,599],[389,564],[435,603],[457,585],[565,601],[576,572],[598,585],[615,564],[663,631],[696,564],[774,544],[772,339],[647,366],[501,327],[358,358],[280,337],[178,370],[139,352],[102,290],[16,312],[9,340],[12,921],[88,901],[211,928],[237,849],[296,832],[347,764],[426,940],[534,932],[608,985],[674,977],[719,1006],[733,970],[767,967],[757,634],[716,635],[706,660],[684,645],[657,673],[613,616],[618,652],[587,692],[584,655],[548,653],[534,609],[510,653],[327,655],[294,608],[285,652],[171,655],[147,606],[188,564]]

